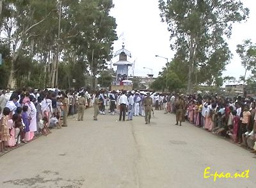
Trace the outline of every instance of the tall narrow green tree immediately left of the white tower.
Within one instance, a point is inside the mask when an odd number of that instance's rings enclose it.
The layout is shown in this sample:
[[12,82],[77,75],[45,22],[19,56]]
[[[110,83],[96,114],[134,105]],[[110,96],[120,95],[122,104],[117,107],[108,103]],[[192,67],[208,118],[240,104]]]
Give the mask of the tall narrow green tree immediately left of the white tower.
[[[90,0],[92,1],[92,0]],[[117,40],[115,18],[109,15],[109,11],[114,7],[112,0],[93,1],[90,10],[92,11],[93,19],[90,20],[91,30],[86,33],[90,36],[91,43],[88,44],[86,57],[88,67],[92,73],[92,87],[95,89],[96,76],[106,69],[106,62],[111,60],[113,52],[113,42]],[[86,1],[84,1],[86,3]]]

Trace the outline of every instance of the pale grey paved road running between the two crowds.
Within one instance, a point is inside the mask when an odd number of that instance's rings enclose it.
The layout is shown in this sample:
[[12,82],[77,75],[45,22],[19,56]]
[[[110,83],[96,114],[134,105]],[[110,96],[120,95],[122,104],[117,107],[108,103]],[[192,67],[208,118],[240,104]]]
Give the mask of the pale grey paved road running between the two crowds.
[[[175,126],[174,115],[155,112],[117,122],[117,115],[54,130],[0,157],[0,187],[255,187],[256,155],[191,124]],[[211,173],[250,169],[249,178],[204,179]]]

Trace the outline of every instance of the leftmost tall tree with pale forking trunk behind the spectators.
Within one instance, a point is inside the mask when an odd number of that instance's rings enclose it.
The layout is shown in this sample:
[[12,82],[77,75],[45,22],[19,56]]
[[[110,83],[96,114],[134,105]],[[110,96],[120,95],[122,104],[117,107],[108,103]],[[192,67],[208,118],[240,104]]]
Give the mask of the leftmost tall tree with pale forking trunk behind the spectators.
[[50,0],[8,1],[8,3],[10,15],[4,18],[2,29],[11,50],[8,87],[12,87],[15,82],[15,63],[19,55],[26,49],[26,41],[35,36],[35,33],[31,33],[31,31],[35,27],[40,27],[40,24],[51,15],[55,8]]

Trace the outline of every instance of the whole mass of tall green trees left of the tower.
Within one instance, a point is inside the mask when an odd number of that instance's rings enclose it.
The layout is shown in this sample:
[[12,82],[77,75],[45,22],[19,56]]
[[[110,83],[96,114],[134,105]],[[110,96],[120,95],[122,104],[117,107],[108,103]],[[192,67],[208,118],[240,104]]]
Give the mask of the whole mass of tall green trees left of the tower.
[[106,69],[117,39],[115,18],[109,15],[112,0],[3,2],[0,45],[7,47],[10,58],[4,62],[10,63],[1,70],[13,72],[16,87],[51,87],[57,69],[60,88],[81,87],[88,73],[95,77]]

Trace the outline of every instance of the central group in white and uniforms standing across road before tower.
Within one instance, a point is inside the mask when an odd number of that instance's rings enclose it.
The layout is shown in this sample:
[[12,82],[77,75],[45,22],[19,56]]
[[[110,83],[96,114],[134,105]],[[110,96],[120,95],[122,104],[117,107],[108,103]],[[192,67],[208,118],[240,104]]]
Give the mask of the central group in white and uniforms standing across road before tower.
[[99,113],[102,115],[106,114],[106,106],[109,106],[109,113],[111,115],[118,113],[120,121],[125,121],[125,116],[127,116],[126,120],[132,120],[133,117],[141,116],[145,117],[145,124],[150,123],[151,107],[154,99],[152,92],[140,90],[113,90],[106,92],[105,90],[100,90],[96,98],[99,99],[99,102],[93,103],[93,106],[95,106],[94,120],[97,120],[97,105],[99,105]]

